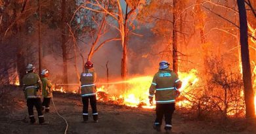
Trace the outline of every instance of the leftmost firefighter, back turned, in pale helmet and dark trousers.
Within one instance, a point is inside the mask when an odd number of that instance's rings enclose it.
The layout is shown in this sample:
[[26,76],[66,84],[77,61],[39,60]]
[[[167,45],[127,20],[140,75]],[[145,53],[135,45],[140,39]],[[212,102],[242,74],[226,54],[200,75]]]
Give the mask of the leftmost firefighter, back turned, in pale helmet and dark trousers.
[[27,74],[22,78],[22,84],[24,86],[24,94],[27,99],[28,114],[30,116],[30,123],[35,123],[35,117],[33,115],[33,106],[37,110],[39,124],[45,124],[41,106],[41,92],[42,82],[39,75],[33,72],[35,67],[32,64],[28,64],[26,67]]

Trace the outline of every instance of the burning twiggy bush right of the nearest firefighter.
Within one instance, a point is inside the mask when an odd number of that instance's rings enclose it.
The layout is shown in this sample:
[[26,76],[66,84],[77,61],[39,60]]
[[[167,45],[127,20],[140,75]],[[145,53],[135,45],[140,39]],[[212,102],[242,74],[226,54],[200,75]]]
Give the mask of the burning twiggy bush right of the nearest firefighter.
[[183,92],[189,101],[190,113],[198,117],[227,118],[228,116],[244,116],[244,94],[242,76],[239,70],[224,66],[223,60],[217,58],[207,61],[207,72],[202,73],[200,84],[192,90]]

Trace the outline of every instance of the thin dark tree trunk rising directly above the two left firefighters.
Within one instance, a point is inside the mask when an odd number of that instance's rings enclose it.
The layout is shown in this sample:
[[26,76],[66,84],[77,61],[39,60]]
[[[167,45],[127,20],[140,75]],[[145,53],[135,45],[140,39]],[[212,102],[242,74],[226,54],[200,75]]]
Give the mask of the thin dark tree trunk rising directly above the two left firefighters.
[[[39,72],[42,71],[42,45],[41,45],[41,0],[38,0],[38,12],[39,12],[39,20],[38,20],[38,67]],[[39,73],[41,74],[41,73]]]

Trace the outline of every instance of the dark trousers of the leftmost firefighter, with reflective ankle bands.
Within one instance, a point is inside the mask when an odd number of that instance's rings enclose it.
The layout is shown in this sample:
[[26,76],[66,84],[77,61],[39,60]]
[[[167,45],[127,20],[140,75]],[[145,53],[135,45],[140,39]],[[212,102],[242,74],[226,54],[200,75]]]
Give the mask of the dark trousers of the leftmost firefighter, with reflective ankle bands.
[[43,124],[45,122],[45,118],[43,118],[42,106],[41,106],[41,98],[28,98],[27,99],[28,106],[28,115],[30,116],[30,123],[35,123],[35,117],[33,115],[33,106],[37,110],[39,124]]

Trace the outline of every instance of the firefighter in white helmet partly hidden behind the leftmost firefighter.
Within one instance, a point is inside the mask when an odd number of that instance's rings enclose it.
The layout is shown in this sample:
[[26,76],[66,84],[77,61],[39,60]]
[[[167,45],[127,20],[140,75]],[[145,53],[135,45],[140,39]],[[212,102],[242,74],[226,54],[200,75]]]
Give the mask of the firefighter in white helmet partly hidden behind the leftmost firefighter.
[[50,111],[50,103],[51,103],[51,97],[53,97],[53,85],[51,84],[50,80],[48,79],[49,76],[49,70],[43,69],[41,72],[42,75],[42,84],[43,84],[43,110],[45,109],[45,112]]

